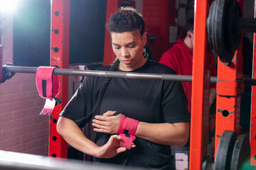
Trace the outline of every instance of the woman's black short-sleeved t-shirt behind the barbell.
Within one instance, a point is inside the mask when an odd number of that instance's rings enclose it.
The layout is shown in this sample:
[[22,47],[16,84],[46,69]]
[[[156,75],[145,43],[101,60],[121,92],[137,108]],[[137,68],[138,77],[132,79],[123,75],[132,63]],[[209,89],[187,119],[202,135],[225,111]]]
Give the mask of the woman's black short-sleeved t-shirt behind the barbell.
[[[109,70],[110,66],[101,70]],[[117,69],[117,72],[123,72]],[[154,74],[176,74],[173,69],[163,64],[147,60],[144,66],[132,72]],[[97,96],[104,78],[87,77],[60,113],[61,116],[74,120],[80,128],[85,123],[78,122],[85,118],[97,101]],[[178,81],[160,81],[148,79],[112,78],[102,98],[100,108],[95,114],[107,111],[119,111],[129,118],[146,123],[181,123],[190,120],[186,96]],[[94,142],[102,146],[110,134],[95,133]],[[111,159],[98,159],[95,162],[107,162],[129,166],[167,169],[170,165],[171,149],[137,137],[135,148],[118,154]]]

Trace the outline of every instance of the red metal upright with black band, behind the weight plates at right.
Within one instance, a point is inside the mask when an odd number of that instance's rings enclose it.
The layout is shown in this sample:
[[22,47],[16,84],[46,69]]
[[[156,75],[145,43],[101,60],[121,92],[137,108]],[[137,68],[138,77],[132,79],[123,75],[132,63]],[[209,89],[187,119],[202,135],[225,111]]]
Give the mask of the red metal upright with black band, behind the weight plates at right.
[[[243,8],[243,0],[240,0]],[[243,10],[242,10],[243,13]],[[242,81],[242,41],[230,64],[225,65],[218,58],[216,97],[215,153],[220,136],[225,130],[240,130],[240,101],[244,90]]]

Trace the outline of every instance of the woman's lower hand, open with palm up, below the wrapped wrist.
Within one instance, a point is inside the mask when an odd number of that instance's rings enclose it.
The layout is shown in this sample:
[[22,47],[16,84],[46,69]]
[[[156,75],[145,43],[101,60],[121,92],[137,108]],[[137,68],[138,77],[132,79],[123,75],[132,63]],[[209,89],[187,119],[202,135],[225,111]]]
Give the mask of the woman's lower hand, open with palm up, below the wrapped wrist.
[[[105,145],[99,147],[96,157],[112,158],[119,153],[125,152],[125,147],[120,147],[121,137],[119,135],[112,135]],[[132,143],[132,147],[135,147]]]

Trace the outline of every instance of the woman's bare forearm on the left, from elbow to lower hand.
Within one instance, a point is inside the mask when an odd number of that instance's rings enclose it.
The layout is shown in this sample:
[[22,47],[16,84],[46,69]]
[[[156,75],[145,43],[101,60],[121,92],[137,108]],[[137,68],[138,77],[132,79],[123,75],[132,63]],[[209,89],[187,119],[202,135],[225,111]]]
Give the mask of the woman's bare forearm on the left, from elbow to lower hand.
[[80,130],[78,125],[73,122],[73,120],[60,117],[57,124],[57,131],[65,139],[65,141],[75,149],[78,149],[85,154],[90,154],[93,157],[97,156],[95,151],[97,150],[98,146],[85,137],[82,130]]

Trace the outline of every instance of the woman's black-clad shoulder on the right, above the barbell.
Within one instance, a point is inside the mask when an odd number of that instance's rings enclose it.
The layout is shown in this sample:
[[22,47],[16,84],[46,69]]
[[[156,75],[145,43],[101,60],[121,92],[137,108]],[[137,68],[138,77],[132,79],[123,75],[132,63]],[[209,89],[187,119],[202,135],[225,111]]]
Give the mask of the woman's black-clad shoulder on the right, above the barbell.
[[168,67],[164,64],[161,64],[159,62],[154,62],[152,60],[148,60],[149,68],[152,70],[153,73],[156,74],[177,74],[174,69],[171,69],[171,67]]

